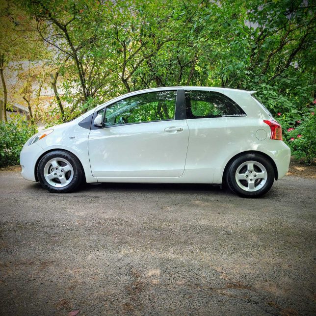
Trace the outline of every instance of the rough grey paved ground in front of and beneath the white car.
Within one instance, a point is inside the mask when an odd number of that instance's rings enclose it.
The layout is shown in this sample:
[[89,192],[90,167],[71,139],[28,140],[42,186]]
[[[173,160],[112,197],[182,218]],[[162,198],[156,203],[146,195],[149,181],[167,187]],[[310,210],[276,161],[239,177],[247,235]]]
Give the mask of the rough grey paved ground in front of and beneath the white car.
[[315,315],[315,188],[51,194],[1,171],[0,315]]

